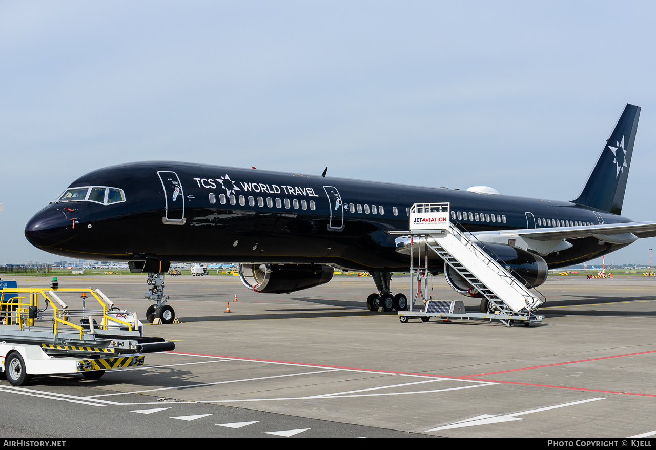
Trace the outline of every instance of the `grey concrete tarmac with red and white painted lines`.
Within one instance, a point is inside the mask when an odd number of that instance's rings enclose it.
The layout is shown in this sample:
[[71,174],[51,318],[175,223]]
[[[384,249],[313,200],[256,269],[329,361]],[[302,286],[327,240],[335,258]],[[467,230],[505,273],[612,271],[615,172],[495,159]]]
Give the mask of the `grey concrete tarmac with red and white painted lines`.
[[[3,279],[28,287],[50,277]],[[142,298],[145,276],[59,282],[100,288],[140,317],[150,304]],[[392,287],[409,294],[409,277],[394,276]],[[656,277],[550,276],[539,289],[546,318],[531,327],[403,324],[395,312],[367,310],[375,291],[368,277],[262,295],[235,276],[167,276],[180,323],[149,324],[144,334],[173,340],[176,350],[147,354],[144,367],[107,371],[100,380],[38,377],[25,389],[2,381],[0,401],[22,403],[19,419],[5,426],[43,434],[28,424],[75,401],[87,423],[108,420],[100,409],[113,411],[130,424],[123,436],[656,435]],[[477,300],[454,293],[443,277],[433,277],[428,295],[478,310]],[[73,424],[45,434],[98,436]]]

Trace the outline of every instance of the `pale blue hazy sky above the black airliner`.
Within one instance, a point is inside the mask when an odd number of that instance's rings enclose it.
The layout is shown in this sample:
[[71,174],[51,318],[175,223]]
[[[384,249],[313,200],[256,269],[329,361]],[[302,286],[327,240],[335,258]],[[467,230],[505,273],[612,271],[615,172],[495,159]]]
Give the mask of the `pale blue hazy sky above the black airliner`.
[[28,219],[129,161],[573,199],[627,102],[623,215],[656,220],[655,5],[0,1],[0,263],[59,260]]

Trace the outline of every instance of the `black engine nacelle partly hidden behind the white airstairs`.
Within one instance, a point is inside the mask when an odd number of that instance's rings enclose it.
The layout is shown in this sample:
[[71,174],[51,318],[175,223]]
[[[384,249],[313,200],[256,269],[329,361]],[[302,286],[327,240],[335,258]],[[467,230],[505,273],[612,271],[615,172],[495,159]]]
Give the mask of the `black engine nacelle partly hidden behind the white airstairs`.
[[[488,243],[484,245],[476,243],[476,245],[495,258],[502,268],[510,267],[512,269],[510,274],[524,283],[525,287],[538,287],[546,281],[549,269],[542,256],[509,245]],[[469,281],[461,277],[449,264],[444,264],[444,276],[451,289],[457,293],[468,297],[481,297]]]

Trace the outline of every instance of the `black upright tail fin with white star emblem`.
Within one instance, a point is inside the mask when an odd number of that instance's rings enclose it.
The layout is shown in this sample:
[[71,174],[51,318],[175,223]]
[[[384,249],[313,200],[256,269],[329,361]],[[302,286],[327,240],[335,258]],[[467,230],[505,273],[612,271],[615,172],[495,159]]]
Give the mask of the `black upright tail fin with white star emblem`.
[[581,195],[573,203],[621,214],[640,106],[626,104]]

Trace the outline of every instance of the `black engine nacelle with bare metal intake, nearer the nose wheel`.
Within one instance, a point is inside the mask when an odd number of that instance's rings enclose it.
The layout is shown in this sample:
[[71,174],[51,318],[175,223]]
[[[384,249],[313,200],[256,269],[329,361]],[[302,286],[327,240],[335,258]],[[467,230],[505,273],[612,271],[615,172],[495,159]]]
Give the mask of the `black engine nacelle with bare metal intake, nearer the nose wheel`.
[[333,268],[326,264],[239,264],[241,283],[265,294],[300,291],[332,278]]

